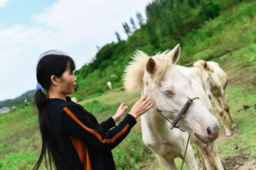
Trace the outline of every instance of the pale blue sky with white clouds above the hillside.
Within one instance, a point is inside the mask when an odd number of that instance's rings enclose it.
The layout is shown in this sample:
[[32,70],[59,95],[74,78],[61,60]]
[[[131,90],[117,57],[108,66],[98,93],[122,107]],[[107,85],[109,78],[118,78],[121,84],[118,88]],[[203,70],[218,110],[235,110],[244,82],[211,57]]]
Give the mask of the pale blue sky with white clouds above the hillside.
[[[47,50],[62,50],[77,69],[97,46],[127,39],[122,23],[146,20],[151,0],[0,0],[0,101],[36,87],[36,64]],[[139,27],[139,24],[137,24]],[[131,26],[132,27],[132,26]]]

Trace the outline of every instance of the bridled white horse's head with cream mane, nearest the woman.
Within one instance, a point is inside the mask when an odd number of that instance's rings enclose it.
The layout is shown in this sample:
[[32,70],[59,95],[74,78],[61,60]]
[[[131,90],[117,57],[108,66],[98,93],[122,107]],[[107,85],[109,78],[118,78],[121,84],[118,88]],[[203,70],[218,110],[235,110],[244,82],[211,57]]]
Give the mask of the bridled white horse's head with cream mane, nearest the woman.
[[[124,86],[130,91],[142,87],[143,82],[144,94],[151,98],[156,108],[166,110],[163,114],[171,120],[178,114],[171,111],[181,111],[188,98],[196,97],[191,79],[176,67],[180,52],[180,45],[154,57],[137,52],[124,76]],[[218,137],[218,121],[198,99],[188,107],[185,117],[177,125],[193,132],[201,142],[212,142]]]

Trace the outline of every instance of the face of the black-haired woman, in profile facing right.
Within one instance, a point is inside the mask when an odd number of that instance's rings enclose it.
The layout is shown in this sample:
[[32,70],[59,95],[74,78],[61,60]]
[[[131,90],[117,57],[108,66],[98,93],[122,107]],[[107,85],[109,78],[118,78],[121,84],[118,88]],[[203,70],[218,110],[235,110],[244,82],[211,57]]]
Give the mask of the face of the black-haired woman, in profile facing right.
[[68,62],[67,69],[60,77],[60,93],[63,95],[73,94],[75,92],[76,80],[74,72],[70,72],[70,63]]

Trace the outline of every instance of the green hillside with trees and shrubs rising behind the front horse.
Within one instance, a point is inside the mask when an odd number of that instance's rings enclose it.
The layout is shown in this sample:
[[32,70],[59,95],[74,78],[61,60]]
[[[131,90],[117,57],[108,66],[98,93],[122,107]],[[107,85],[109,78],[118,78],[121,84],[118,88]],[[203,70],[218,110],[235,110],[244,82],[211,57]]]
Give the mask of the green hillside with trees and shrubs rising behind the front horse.
[[[78,101],[107,91],[107,81],[111,81],[114,88],[121,87],[124,68],[135,50],[154,55],[180,43],[181,59],[178,64],[189,66],[196,60],[213,60],[256,42],[255,1],[215,1],[212,5],[218,4],[220,11],[214,18],[203,16],[203,4],[192,8],[184,1],[182,6],[176,4],[170,9],[163,4],[169,1],[161,1],[162,4],[157,1],[147,6],[148,18],[141,28],[127,40],[103,46],[92,63],[75,72],[78,89],[73,96]],[[180,17],[178,21],[176,16]],[[166,29],[170,26],[172,30]]]

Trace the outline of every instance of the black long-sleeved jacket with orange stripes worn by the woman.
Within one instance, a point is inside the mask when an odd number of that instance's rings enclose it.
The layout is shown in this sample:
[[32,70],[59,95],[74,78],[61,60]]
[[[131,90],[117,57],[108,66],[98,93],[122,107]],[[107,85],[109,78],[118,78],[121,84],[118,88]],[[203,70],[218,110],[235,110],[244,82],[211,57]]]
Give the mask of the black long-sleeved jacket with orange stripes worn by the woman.
[[69,97],[67,101],[48,99],[48,116],[64,162],[70,170],[116,169],[111,150],[137,123],[132,115],[127,114],[117,126],[113,118],[98,124],[94,115],[70,101]]

